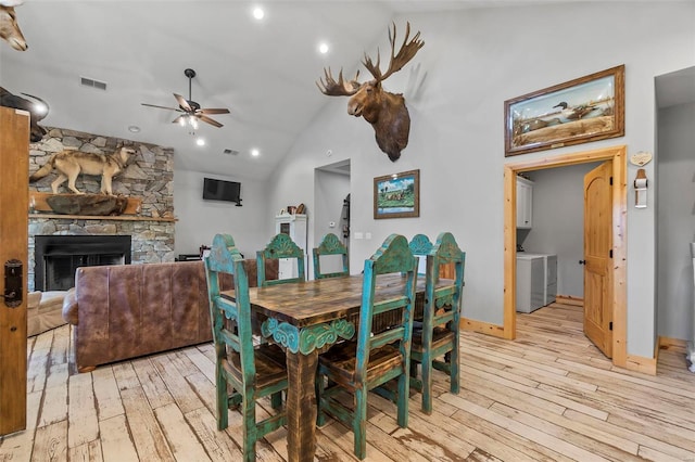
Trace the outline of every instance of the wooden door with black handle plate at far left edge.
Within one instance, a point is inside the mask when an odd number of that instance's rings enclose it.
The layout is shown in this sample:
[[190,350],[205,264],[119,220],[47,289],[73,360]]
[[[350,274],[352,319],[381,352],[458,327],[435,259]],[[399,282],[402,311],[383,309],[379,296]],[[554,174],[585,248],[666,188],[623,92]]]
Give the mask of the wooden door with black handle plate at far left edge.
[[0,107],[0,294],[7,262],[22,277],[22,301],[0,298],[0,435],[26,428],[28,177],[29,114]]

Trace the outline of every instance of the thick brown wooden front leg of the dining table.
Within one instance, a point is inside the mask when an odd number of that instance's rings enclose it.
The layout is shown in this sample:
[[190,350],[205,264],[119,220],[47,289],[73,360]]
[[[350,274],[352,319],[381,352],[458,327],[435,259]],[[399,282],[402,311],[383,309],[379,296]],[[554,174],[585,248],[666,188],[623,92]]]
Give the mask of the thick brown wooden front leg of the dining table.
[[307,355],[287,351],[287,442],[288,461],[311,462],[316,452],[316,396],[314,377],[318,351]]

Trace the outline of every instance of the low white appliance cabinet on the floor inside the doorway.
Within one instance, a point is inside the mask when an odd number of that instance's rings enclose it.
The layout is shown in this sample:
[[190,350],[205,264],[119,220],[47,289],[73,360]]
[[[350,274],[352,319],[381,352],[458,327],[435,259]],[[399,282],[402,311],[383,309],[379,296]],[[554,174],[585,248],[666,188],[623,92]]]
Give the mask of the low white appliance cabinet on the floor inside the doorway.
[[517,311],[532,312],[555,301],[557,255],[517,254]]

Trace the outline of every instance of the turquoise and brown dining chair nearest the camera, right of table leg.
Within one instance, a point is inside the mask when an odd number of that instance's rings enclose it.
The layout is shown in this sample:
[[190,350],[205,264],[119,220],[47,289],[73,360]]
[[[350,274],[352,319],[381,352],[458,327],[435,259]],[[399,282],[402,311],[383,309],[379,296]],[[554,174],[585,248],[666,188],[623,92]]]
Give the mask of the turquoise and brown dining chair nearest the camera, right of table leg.
[[[397,423],[402,428],[408,424],[416,266],[417,259],[407,240],[391,234],[371,258],[365,260],[356,341],[334,345],[318,358],[317,423],[323,425],[326,414],[330,414],[349,426],[354,433],[355,455],[361,460],[367,451],[367,395],[370,389],[397,381]],[[397,296],[383,299],[379,297],[377,279],[389,273],[402,273],[402,286]],[[374,317],[391,310],[399,310],[400,322],[375,332]],[[345,393],[352,395],[352,408],[341,399]]]

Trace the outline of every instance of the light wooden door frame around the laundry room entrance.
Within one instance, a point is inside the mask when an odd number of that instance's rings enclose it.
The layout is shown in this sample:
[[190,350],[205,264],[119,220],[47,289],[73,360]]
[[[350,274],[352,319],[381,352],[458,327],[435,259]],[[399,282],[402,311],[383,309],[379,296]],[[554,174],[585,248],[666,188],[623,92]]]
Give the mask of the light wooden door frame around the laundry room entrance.
[[627,368],[627,146],[614,146],[554,157],[510,163],[504,170],[504,337],[516,337],[516,181],[517,174],[569,165],[611,161],[612,215],[612,363]]

